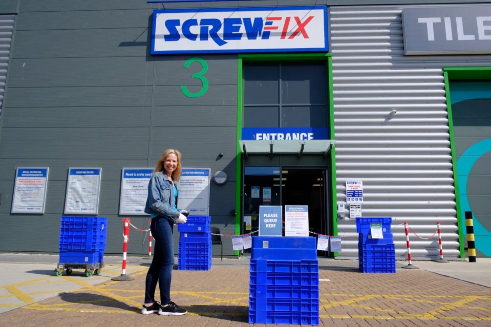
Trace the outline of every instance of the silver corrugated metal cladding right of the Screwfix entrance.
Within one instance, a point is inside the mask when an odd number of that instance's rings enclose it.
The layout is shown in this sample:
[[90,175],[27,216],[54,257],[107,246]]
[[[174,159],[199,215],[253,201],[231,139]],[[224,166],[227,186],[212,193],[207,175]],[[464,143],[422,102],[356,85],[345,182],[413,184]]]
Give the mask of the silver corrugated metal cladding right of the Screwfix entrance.
[[[456,258],[442,67],[489,66],[491,56],[404,56],[402,8],[330,7],[337,202],[346,203],[346,180],[361,180],[362,215],[392,217],[397,257],[407,257],[408,222],[413,258],[436,258],[440,222],[444,257]],[[354,220],[339,220],[338,233],[339,257],[357,256]]]

